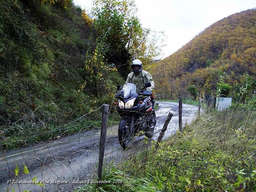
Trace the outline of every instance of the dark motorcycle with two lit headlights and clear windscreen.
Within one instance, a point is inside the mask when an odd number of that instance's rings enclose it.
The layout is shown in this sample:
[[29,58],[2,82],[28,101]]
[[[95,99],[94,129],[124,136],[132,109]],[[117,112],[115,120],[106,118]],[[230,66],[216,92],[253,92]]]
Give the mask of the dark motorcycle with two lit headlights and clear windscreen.
[[[150,86],[150,82],[146,82],[144,88]],[[132,83],[126,83],[123,87],[118,86],[117,89],[119,91],[115,98],[118,101],[115,104],[117,112],[122,117],[118,126],[118,140],[122,148],[127,149],[139,133],[144,133],[148,138],[153,136],[156,125],[154,109],[158,103],[154,102],[151,91],[136,93],[136,85]],[[141,97],[143,100],[139,99]],[[154,125],[153,128],[150,124]]]

